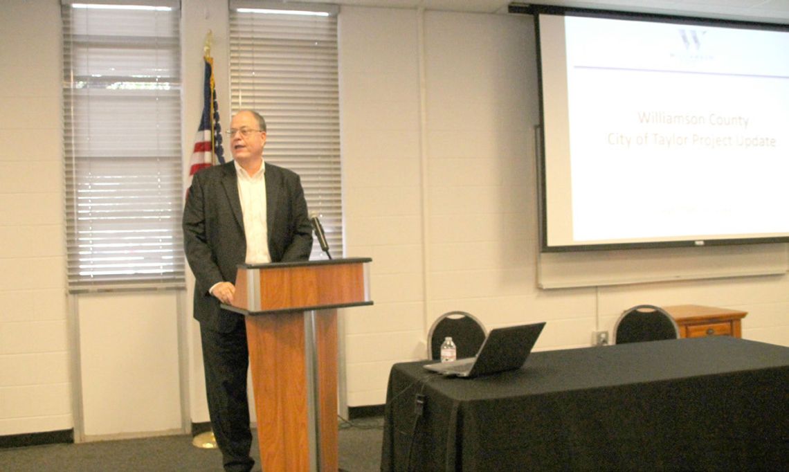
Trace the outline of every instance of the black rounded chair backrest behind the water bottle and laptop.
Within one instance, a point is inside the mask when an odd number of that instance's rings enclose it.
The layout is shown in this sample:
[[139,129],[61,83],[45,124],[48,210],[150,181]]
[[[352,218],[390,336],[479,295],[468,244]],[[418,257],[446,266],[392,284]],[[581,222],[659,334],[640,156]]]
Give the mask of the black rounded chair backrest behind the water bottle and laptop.
[[458,359],[461,359],[477,355],[487,332],[481,321],[471,313],[444,313],[433,322],[428,332],[428,356],[431,359],[441,358],[441,343],[447,336],[452,336],[454,345],[458,347]]

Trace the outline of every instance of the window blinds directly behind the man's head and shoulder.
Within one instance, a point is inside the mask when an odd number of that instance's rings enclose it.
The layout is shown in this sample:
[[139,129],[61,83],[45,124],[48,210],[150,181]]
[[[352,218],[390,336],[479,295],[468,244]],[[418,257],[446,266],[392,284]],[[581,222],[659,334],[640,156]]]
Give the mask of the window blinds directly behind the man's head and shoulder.
[[[264,159],[301,176],[332,257],[342,257],[337,11],[230,2],[231,109],[266,118]],[[321,257],[315,242],[311,258]]]

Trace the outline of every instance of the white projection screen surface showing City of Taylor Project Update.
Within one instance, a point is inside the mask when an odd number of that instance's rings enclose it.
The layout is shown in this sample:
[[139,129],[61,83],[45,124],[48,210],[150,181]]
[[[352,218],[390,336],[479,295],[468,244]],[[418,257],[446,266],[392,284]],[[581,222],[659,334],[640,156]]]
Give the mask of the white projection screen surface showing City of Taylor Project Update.
[[563,65],[544,69],[566,74],[567,98],[544,86],[548,204],[569,191],[548,208],[566,213],[555,244],[789,234],[789,33],[552,22]]

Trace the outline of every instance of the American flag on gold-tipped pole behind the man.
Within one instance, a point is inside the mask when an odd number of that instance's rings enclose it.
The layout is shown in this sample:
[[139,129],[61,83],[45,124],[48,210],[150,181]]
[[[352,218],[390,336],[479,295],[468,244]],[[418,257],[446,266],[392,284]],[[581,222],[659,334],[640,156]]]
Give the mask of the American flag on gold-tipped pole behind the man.
[[216,104],[214,87],[214,58],[208,54],[203,57],[205,72],[203,77],[203,117],[200,128],[195,136],[195,147],[192,159],[189,160],[188,189],[192,185],[192,176],[204,167],[214,165],[214,156],[220,164],[225,163],[222,150],[222,128],[219,126],[219,109]]

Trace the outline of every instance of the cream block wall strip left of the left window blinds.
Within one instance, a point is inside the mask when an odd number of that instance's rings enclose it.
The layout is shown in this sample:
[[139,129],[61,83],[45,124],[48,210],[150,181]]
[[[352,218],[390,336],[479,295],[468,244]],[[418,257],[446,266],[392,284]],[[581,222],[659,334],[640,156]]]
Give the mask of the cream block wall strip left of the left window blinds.
[[73,424],[59,25],[57,2],[2,2],[0,435]]

